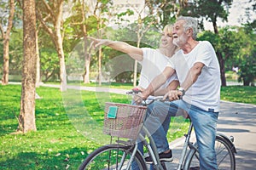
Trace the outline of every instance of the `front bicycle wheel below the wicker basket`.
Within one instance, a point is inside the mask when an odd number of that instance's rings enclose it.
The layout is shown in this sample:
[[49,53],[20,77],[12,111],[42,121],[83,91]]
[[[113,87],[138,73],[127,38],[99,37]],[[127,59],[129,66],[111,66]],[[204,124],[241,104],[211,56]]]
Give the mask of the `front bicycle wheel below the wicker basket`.
[[[127,162],[130,160],[132,150],[132,146],[123,144],[104,145],[91,152],[83,161],[79,170],[128,169]],[[121,161],[123,156],[125,159]],[[137,169],[147,169],[146,162],[138,151],[135,154],[134,162],[137,162]]]

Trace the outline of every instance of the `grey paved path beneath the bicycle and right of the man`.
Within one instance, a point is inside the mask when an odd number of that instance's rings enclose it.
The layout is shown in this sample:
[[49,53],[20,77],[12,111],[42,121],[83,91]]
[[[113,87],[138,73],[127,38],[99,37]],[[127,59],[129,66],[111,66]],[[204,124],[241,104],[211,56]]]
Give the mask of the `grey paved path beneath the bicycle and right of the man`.
[[[218,131],[235,138],[236,170],[256,169],[256,105],[221,101]],[[177,139],[170,144],[174,161],[167,163],[168,169],[177,168],[182,144],[183,139]]]

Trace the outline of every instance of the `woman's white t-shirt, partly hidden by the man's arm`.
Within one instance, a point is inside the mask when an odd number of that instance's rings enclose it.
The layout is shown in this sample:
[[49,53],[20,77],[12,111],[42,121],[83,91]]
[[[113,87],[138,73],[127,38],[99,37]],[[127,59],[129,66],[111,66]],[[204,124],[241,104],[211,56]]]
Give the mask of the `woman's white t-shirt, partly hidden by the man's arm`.
[[[139,63],[142,65],[142,71],[138,85],[142,88],[148,88],[149,83],[154,79],[154,77],[160,75],[160,73],[164,71],[170,58],[166,57],[164,54],[161,54],[159,49],[142,49],[143,60],[139,61]],[[164,86],[168,86],[173,80],[177,80],[176,74],[169,78]]]

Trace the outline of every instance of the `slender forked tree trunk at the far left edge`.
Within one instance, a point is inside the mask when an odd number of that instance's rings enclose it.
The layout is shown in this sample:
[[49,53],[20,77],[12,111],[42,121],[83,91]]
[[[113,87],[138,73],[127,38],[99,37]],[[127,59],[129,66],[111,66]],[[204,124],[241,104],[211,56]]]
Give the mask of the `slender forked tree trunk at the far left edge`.
[[3,77],[2,84],[9,82],[9,35],[13,26],[15,16],[15,0],[9,0],[9,19],[6,31],[4,31],[4,21],[0,19],[0,31],[3,37]]

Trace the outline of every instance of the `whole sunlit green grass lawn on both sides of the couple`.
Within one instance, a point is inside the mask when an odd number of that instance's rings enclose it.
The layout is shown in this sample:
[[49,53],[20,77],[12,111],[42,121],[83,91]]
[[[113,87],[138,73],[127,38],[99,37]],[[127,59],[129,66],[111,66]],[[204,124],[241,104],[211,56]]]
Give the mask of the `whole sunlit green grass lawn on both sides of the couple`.
[[[104,103],[131,100],[120,94],[75,90],[61,94],[57,88],[40,87],[37,132],[17,134],[20,90],[20,85],[0,86],[0,169],[78,169],[88,153],[109,141],[102,134]],[[224,100],[256,105],[253,87],[225,87],[221,95]],[[172,119],[168,139],[180,137],[187,127],[182,118]]]

